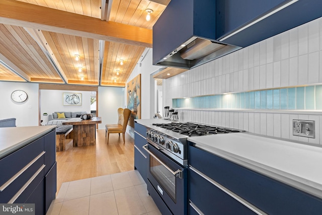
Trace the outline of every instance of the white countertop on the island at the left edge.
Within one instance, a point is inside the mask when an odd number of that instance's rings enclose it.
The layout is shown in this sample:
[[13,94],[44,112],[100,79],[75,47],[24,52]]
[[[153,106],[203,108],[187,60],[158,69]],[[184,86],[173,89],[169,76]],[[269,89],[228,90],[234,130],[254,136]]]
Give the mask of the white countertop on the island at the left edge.
[[48,133],[55,125],[0,128],[0,159]]

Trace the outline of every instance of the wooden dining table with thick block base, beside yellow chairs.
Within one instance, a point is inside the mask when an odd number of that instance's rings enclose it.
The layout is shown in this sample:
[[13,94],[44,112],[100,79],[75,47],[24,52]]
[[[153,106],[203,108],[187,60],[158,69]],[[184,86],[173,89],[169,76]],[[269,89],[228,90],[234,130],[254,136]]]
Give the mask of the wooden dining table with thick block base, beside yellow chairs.
[[94,146],[96,144],[96,124],[102,123],[101,117],[85,120],[72,118],[64,121],[63,125],[72,125],[73,147]]

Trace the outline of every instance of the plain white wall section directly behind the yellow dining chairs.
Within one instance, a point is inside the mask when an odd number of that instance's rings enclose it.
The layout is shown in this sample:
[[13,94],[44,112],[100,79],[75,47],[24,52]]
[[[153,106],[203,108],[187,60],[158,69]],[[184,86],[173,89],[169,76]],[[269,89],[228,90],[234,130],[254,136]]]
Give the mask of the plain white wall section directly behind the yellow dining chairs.
[[118,121],[118,108],[125,108],[124,88],[120,87],[99,87],[98,103],[99,116],[102,117],[102,123],[99,129],[105,129],[106,124],[116,124]]

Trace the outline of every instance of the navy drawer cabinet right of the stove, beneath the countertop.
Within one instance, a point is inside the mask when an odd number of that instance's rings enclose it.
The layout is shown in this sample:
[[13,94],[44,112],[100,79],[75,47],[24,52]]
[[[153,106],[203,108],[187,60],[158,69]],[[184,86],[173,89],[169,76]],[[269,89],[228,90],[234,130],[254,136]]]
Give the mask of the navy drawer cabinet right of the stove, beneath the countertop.
[[217,190],[215,186],[211,188],[205,178],[268,214],[319,214],[322,211],[322,199],[193,146],[189,146],[189,162],[189,197],[201,211],[211,211],[217,204],[220,207],[229,202],[222,197],[224,194],[217,196],[214,203],[200,201],[198,198],[208,195],[210,189]]

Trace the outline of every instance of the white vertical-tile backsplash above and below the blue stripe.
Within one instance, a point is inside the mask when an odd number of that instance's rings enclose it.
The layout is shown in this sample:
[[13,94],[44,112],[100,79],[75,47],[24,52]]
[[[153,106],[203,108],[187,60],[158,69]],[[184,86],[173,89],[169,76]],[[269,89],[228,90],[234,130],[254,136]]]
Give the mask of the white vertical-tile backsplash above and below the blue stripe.
[[[164,106],[173,98],[322,83],[322,18],[164,80]],[[299,110],[181,109],[179,119],[322,144],[322,115]],[[292,119],[314,120],[315,138],[292,134]]]

